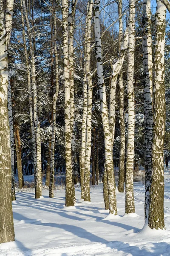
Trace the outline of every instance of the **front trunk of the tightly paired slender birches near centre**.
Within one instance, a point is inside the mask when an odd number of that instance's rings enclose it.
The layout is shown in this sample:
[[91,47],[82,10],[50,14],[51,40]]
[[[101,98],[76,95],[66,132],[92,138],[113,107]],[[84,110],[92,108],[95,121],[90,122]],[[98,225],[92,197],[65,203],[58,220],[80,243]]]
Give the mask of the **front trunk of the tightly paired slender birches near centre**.
[[91,159],[91,111],[92,111],[92,78],[90,73],[90,53],[91,53],[91,18],[93,1],[89,1],[86,48],[85,48],[85,76],[87,79],[87,120],[86,120],[86,145],[85,145],[85,176],[84,176],[84,201],[91,201],[90,198],[90,159]]

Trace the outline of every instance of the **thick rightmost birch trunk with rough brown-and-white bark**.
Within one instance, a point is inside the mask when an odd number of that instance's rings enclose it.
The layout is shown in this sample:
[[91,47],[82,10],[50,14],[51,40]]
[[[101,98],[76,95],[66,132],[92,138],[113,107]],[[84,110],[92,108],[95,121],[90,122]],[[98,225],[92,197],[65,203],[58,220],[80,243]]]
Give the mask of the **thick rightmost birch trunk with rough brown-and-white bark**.
[[153,84],[153,151],[150,186],[149,227],[164,229],[164,45],[166,7],[157,0]]

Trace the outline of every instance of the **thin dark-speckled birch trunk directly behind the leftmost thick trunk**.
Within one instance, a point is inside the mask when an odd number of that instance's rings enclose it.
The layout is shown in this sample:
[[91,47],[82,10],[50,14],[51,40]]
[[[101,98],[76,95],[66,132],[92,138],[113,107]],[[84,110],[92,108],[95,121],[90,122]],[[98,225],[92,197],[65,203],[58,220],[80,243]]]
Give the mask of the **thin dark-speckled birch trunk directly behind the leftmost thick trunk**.
[[8,119],[10,128],[10,145],[11,145],[11,198],[16,200],[15,196],[15,179],[14,179],[14,127],[12,116],[12,97],[11,97],[11,83],[8,81]]

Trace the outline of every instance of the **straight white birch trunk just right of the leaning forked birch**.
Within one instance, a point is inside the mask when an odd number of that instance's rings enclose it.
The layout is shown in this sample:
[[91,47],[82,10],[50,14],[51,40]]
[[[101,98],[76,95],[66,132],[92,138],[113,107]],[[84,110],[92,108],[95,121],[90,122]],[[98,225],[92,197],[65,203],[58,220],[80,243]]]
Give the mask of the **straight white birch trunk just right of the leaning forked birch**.
[[134,131],[135,131],[135,102],[134,102],[134,50],[135,50],[135,1],[130,0],[129,10],[129,45],[127,66],[127,99],[128,99],[128,123],[127,123],[127,160],[126,160],[126,199],[125,212],[135,212],[133,194],[133,159],[134,159]]

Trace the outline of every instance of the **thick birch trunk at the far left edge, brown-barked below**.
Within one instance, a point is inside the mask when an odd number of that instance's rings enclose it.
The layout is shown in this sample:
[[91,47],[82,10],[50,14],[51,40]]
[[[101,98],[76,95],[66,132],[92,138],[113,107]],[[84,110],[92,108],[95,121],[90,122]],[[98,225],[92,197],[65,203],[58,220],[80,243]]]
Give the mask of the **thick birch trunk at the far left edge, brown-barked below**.
[[[5,11],[4,11],[5,7]],[[11,204],[11,149],[8,122],[8,58],[13,0],[0,0],[0,243],[14,241]]]

